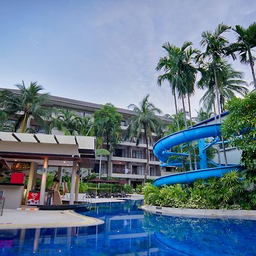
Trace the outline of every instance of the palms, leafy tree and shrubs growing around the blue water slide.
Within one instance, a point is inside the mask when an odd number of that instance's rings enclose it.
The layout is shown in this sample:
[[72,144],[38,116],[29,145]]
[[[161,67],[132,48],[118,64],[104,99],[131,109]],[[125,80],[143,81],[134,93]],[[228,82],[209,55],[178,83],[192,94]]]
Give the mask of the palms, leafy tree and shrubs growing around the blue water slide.
[[[234,43],[225,38],[225,34],[230,31],[237,36]],[[170,125],[169,132],[186,129],[187,115],[192,125],[189,98],[194,93],[195,86],[204,89],[205,93],[200,101],[203,106],[197,111],[196,121],[203,121],[213,114],[217,122],[217,117],[220,117],[222,112],[229,111],[221,129],[225,165],[228,162],[224,138],[229,141],[229,146],[241,150],[241,165],[244,171],[234,170],[221,178],[198,179],[191,185],[175,184],[158,188],[147,184],[143,188],[144,203],[177,208],[256,209],[256,93],[249,92],[242,72],[235,71],[227,60],[228,56],[234,60],[238,55],[242,64],[250,65],[253,76],[251,84],[255,91],[255,57],[252,52],[256,47],[256,23],[248,28],[239,25],[232,28],[221,23],[213,32],[204,31],[201,36],[203,51],[194,49],[191,42],[185,42],[181,47],[170,43],[163,45],[167,55],[160,57],[156,70],[164,71],[163,75],[158,77],[158,85],[168,81],[174,95],[176,114],[172,116],[174,122]],[[200,75],[197,82],[196,73]],[[177,98],[182,101],[181,110],[177,109]],[[185,109],[185,98],[188,100],[188,112]],[[184,120],[181,119],[182,114]],[[221,122],[221,119],[218,122]],[[192,161],[196,170],[195,144],[187,144],[187,147],[181,145],[175,150],[188,152],[189,170],[193,170]],[[220,164],[220,148],[216,147],[216,150]],[[184,159],[181,160],[184,163]],[[183,170],[184,168],[183,164]]]

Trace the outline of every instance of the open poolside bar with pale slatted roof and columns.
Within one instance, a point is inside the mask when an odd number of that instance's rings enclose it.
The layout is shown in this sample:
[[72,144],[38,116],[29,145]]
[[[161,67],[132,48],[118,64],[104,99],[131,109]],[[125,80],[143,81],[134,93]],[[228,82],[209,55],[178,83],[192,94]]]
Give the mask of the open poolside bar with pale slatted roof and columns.
[[[43,166],[42,175],[39,175],[41,178],[40,192],[36,191],[37,194],[40,194],[38,204],[44,205],[51,201],[48,198],[49,192],[46,192],[49,166],[57,167],[58,179],[61,177],[63,167],[72,167],[69,204],[74,204],[77,169],[80,167],[91,168],[94,163],[95,152],[95,137],[0,132],[0,157],[5,159],[7,163],[10,162],[12,167],[11,172],[7,168],[6,170],[4,167],[0,168],[0,174],[7,176],[4,175],[7,172],[11,176],[14,173],[26,173],[28,175],[27,188],[24,188],[24,182],[19,184],[0,184],[0,191],[5,191],[5,208],[19,208],[22,204],[23,194],[25,194],[23,203],[27,204],[28,195],[36,188],[38,166]],[[17,194],[18,191],[19,195]],[[9,194],[15,197],[15,200],[11,199],[12,197]]]

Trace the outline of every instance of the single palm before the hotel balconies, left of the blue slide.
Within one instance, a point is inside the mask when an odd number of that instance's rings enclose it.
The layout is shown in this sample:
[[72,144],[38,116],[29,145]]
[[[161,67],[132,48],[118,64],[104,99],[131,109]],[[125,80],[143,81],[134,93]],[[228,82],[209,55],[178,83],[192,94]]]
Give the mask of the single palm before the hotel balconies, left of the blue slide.
[[[152,102],[148,101],[149,94],[139,102],[139,106],[130,104],[129,109],[132,109],[135,112],[133,117],[127,119],[128,127],[125,131],[125,138],[136,137],[136,144],[138,146],[139,142],[142,139],[142,134],[144,131],[144,136],[146,139],[147,146],[147,166],[145,174],[149,174],[149,161],[150,161],[150,151],[149,146],[152,142],[152,133],[155,133],[157,127],[161,125],[162,120],[156,116],[156,114],[161,114],[162,111],[155,107]],[[146,175],[145,175],[146,177]],[[145,181],[145,180],[144,180]]]

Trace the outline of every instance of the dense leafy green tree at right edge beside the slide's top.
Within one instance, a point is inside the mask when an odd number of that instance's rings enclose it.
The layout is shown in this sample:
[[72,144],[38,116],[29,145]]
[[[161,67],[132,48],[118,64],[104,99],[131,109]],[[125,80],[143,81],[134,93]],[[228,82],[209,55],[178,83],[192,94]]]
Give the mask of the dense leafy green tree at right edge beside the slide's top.
[[[226,107],[228,117],[221,126],[225,138],[230,144],[242,151],[241,164],[247,171],[243,172],[247,179],[256,183],[256,93],[250,93],[245,98],[233,98]],[[240,136],[237,136],[240,135]]]

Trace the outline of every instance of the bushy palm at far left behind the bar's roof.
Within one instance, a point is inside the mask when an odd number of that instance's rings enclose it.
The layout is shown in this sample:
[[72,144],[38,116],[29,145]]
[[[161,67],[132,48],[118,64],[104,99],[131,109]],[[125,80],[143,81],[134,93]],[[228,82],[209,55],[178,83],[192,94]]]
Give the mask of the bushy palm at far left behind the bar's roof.
[[44,88],[37,82],[31,82],[26,88],[24,81],[15,85],[20,92],[18,94],[10,90],[2,90],[0,93],[0,108],[8,114],[20,113],[15,125],[15,131],[25,133],[30,127],[30,119],[34,118],[38,125],[46,126],[45,119],[51,116],[51,108],[42,106],[49,99],[48,93],[40,93]]

